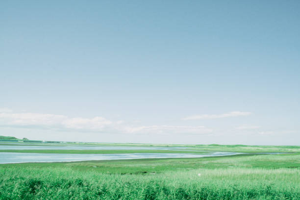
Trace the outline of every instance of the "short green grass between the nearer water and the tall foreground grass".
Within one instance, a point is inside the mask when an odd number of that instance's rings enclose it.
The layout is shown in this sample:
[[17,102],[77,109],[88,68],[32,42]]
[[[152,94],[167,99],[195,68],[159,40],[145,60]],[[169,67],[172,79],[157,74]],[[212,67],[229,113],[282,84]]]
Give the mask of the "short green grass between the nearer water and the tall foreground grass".
[[0,168],[70,168],[99,173],[163,173],[190,169],[300,169],[300,153],[255,155],[240,154],[203,158],[152,158],[131,160],[99,160],[56,163],[0,164]]

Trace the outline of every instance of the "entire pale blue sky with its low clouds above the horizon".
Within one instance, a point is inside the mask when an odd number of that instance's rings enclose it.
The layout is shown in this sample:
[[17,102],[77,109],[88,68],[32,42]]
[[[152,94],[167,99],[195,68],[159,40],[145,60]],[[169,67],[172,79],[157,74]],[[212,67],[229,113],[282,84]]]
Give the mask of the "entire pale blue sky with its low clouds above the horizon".
[[299,0],[1,0],[0,135],[300,145]]

